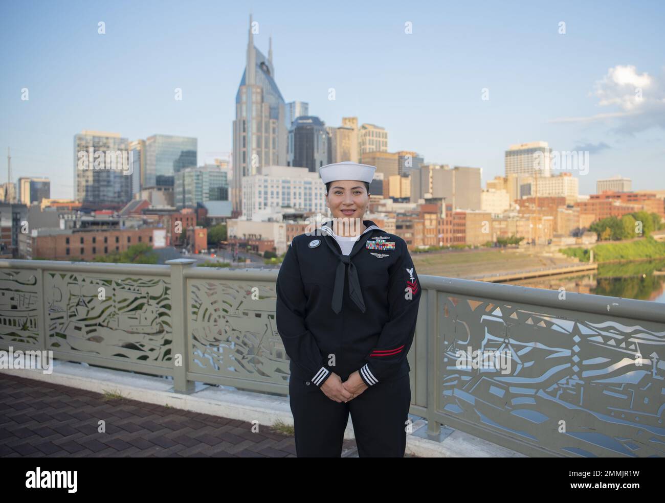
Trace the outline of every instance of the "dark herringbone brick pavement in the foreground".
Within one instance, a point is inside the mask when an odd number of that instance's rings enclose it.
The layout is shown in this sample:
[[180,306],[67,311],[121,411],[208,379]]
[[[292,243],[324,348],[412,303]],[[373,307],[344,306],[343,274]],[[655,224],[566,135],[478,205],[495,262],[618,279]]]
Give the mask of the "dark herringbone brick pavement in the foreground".
[[[293,437],[251,426],[0,373],[0,457],[296,457]],[[355,441],[342,456],[358,456]]]

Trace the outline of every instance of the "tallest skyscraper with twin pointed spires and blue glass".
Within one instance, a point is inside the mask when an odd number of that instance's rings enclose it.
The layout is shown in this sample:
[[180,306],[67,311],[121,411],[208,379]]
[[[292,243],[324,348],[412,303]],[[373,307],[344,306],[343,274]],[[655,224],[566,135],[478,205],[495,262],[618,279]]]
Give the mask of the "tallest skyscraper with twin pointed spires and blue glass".
[[231,201],[236,214],[242,209],[243,177],[255,174],[259,166],[287,164],[287,112],[274,76],[272,39],[266,58],[254,47],[250,15],[247,60],[233,121]]

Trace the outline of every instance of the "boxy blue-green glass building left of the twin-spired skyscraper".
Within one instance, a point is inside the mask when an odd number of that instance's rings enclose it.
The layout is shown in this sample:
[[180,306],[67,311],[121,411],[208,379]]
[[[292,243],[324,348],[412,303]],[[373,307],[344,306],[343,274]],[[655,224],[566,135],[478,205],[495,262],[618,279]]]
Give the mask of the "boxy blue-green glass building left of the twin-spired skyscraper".
[[142,187],[173,187],[174,175],[196,167],[197,141],[188,136],[154,134],[146,138],[146,176]]

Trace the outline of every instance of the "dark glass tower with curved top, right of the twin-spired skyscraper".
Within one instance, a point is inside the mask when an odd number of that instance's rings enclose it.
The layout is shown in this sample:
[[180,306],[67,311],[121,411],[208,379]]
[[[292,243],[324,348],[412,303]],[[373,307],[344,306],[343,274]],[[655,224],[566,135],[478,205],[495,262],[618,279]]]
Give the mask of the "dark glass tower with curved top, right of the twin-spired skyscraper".
[[289,130],[289,166],[307,167],[319,172],[319,167],[331,163],[330,136],[323,120],[315,116],[298,117]]

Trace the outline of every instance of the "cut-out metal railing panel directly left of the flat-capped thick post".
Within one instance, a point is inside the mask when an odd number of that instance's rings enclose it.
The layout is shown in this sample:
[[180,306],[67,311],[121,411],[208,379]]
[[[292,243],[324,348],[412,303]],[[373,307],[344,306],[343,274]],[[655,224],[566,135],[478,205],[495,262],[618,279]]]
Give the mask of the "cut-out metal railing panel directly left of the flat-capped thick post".
[[47,349],[171,367],[170,282],[46,272]]

